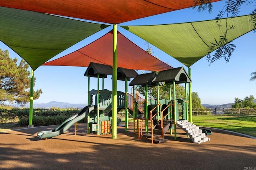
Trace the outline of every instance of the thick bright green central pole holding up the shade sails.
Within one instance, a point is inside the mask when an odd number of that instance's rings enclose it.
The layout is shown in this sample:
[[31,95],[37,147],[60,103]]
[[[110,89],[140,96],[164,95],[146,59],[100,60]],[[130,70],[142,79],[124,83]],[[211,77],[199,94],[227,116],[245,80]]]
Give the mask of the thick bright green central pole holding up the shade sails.
[[112,138],[117,138],[117,24],[113,25]]

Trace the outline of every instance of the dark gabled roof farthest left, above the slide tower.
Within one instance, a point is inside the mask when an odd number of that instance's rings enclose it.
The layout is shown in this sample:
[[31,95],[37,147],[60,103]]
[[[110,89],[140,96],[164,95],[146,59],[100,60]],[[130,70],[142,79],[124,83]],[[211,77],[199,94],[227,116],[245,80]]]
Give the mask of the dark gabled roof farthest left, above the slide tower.
[[112,67],[110,65],[99,64],[99,63],[90,63],[86,69],[84,76],[106,78],[107,75],[112,75]]

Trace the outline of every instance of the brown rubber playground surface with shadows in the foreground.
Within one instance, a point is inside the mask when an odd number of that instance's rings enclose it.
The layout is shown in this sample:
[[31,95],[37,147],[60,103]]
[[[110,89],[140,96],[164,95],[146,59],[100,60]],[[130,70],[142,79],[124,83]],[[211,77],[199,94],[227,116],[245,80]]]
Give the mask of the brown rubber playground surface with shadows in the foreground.
[[112,134],[87,134],[86,124],[74,125],[63,134],[41,140],[37,132],[56,126],[34,127],[0,132],[0,169],[256,169],[256,139],[211,129],[210,141],[196,144],[177,128],[166,134],[169,141],[151,144],[134,134],[132,124],[125,132],[118,127]]

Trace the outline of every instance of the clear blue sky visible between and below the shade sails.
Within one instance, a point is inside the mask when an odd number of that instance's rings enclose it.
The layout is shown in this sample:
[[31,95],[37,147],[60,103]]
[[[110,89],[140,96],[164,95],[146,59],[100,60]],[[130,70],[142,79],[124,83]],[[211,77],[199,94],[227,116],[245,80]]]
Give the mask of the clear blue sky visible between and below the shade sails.
[[[224,7],[225,1],[214,2],[211,14],[197,12],[191,8],[160,14],[126,22],[120,25],[153,25],[153,24],[172,24],[182,22],[193,22],[200,20],[212,20],[218,12]],[[240,15],[250,14],[256,6],[244,5],[241,8]],[[62,57],[72,51],[98,39],[100,36],[109,32],[112,27],[96,33],[73,47],[56,55],[52,59]],[[142,49],[147,49],[146,42],[137,36],[118,27],[124,36],[136,43]],[[192,91],[197,92],[202,104],[220,105],[224,103],[234,103],[235,97],[244,99],[244,97],[253,95],[256,97],[256,81],[249,81],[251,73],[256,71],[255,67],[255,39],[256,33],[250,32],[233,41],[236,50],[233,52],[230,61],[226,63],[224,59],[218,60],[209,66],[206,57],[200,59],[191,66],[192,72]],[[160,60],[170,64],[172,67],[183,66],[187,71],[188,68],[182,63],[167,55],[163,51],[154,47],[153,55]],[[10,57],[21,59],[14,51],[0,42],[2,50],[8,49]],[[52,60],[51,59],[51,60]],[[67,66],[40,66],[34,71],[36,85],[34,89],[42,89],[43,93],[40,98],[35,100],[36,103],[48,103],[50,101],[68,102],[74,104],[87,104],[88,77],[84,77],[87,67],[67,67]],[[141,74],[141,71],[138,71]],[[100,81],[101,82],[101,81]],[[118,81],[118,91],[124,91],[124,82]],[[101,87],[101,86],[100,86]],[[90,89],[97,88],[97,79],[90,79]],[[128,92],[132,87],[128,87]],[[112,89],[112,79],[108,76],[104,80],[104,89]]]

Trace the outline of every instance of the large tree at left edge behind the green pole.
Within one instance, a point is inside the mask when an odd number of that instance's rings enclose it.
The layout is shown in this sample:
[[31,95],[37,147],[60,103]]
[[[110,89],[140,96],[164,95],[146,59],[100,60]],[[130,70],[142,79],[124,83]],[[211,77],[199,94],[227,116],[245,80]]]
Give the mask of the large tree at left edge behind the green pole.
[[[29,65],[22,59],[16,65],[17,58],[11,59],[8,50],[0,49],[0,103],[15,102],[24,106],[30,101]],[[34,78],[34,85],[36,79]],[[33,98],[38,99],[42,89],[33,91]]]

